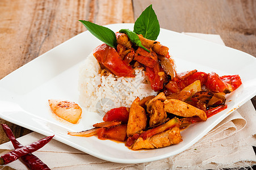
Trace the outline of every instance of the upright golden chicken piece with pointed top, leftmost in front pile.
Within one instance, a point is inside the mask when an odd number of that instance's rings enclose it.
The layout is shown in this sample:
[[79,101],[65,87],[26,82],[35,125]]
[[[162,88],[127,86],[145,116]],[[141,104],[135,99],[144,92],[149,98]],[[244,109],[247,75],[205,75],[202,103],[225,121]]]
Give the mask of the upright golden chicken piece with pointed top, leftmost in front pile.
[[146,112],[140,105],[140,98],[137,97],[130,108],[127,124],[127,136],[131,136],[146,128]]

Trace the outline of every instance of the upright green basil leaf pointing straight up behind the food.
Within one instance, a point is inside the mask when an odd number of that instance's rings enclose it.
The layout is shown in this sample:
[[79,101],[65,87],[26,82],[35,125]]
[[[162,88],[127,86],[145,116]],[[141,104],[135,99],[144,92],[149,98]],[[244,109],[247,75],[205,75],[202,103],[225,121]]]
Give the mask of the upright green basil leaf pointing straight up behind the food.
[[152,5],[148,6],[136,20],[133,32],[141,34],[149,40],[157,39],[160,33],[160,25]]

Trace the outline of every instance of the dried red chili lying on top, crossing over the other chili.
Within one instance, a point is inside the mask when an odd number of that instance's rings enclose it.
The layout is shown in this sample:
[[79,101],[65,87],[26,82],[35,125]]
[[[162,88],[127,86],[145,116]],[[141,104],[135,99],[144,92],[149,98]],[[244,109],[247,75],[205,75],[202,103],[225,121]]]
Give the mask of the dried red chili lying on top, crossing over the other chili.
[[0,157],[0,165],[9,164],[9,163],[13,162],[14,160],[19,159],[20,157],[22,157],[24,155],[27,155],[27,154],[30,154],[32,152],[35,152],[35,151],[39,150],[41,147],[43,147],[48,142],[50,142],[53,137],[54,137],[54,135],[50,136],[50,137],[40,139],[39,141],[33,142],[30,145],[26,145],[24,147],[16,148],[14,151],[11,151],[11,152],[8,152],[5,155],[2,155]]

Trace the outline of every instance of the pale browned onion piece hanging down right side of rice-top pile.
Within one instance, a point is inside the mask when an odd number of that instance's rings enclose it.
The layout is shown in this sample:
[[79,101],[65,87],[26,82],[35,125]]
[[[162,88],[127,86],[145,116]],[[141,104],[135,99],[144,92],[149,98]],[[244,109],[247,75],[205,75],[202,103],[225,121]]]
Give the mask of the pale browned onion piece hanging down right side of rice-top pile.
[[169,58],[166,58],[164,56],[158,55],[158,59],[160,60],[160,64],[163,70],[165,70],[165,73],[170,75],[171,79],[173,79],[174,76],[176,75],[174,64],[171,63]]

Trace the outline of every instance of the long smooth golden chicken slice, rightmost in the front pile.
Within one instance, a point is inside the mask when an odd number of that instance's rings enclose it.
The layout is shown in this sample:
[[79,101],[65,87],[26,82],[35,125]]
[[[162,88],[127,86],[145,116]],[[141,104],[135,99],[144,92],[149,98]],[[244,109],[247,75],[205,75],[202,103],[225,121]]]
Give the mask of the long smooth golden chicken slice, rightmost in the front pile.
[[192,117],[199,116],[203,121],[207,120],[206,114],[204,111],[185,103],[184,101],[177,99],[167,99],[163,102],[165,104],[165,111],[173,113],[177,116],[182,117]]

